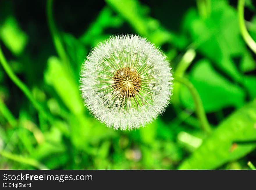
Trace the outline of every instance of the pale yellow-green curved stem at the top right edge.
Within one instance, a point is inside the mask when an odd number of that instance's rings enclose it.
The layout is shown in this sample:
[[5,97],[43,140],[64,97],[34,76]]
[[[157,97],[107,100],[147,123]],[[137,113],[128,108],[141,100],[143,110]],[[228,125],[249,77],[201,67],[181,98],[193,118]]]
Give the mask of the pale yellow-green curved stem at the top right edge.
[[251,48],[251,50],[253,50],[253,52],[256,54],[256,43],[246,29],[246,25],[245,25],[245,21],[244,21],[244,17],[243,17],[244,3],[245,3],[245,0],[238,1],[237,9],[238,9],[239,27],[240,27],[240,31],[241,31],[244,41]]

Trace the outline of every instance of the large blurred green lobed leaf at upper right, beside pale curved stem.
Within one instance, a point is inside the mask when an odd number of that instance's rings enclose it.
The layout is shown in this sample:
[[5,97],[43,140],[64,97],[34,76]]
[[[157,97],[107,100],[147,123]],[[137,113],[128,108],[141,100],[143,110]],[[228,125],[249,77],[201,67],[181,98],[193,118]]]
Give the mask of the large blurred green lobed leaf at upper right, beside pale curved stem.
[[[242,82],[239,70],[246,72],[256,68],[255,60],[241,38],[237,12],[226,1],[212,1],[211,15],[207,19],[190,10],[184,28],[192,38],[192,46],[233,80]],[[238,68],[235,58],[241,58]]]

